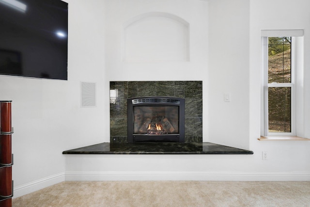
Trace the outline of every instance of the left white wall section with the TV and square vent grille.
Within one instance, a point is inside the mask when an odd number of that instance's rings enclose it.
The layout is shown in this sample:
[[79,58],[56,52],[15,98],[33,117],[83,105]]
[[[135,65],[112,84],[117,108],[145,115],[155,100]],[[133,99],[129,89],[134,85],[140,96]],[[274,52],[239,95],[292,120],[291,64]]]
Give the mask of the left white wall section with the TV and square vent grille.
[[[22,194],[40,187],[35,183],[64,180],[62,151],[100,143],[103,131],[109,131],[103,124],[104,109],[109,108],[103,81],[104,4],[65,1],[69,3],[68,80],[0,76],[0,99],[13,101],[13,180]],[[97,83],[96,108],[80,108],[80,81]]]

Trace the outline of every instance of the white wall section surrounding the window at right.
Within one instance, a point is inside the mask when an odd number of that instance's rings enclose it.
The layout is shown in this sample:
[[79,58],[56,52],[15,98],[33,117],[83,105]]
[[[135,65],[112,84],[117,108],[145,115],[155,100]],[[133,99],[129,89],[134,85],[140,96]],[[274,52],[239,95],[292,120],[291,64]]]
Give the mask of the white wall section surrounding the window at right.
[[[268,6],[266,6],[268,5]],[[304,62],[298,63],[304,65],[304,85],[303,99],[300,98],[299,109],[304,111],[303,124],[304,130],[299,131],[299,136],[310,138],[310,85],[309,85],[309,67],[310,60],[307,57],[310,55],[310,14],[307,11],[310,2],[307,0],[296,0],[294,3],[289,3],[288,0],[251,0],[250,1],[250,64],[249,64],[249,138],[250,149],[254,153],[268,151],[269,160],[262,166],[263,171],[278,171],[278,167],[273,167],[269,164],[273,163],[282,167],[282,171],[297,172],[303,171],[309,174],[310,172],[310,142],[259,142],[256,139],[260,136],[260,114],[261,114],[261,79],[262,77],[262,48],[261,48],[261,30],[304,30]],[[283,12],[287,10],[289,12]],[[300,84],[300,83],[298,83]],[[301,109],[302,108],[302,109]],[[298,117],[297,117],[298,119]],[[300,121],[299,121],[300,124]],[[304,169],[301,169],[304,166]],[[298,170],[299,169],[299,170]],[[309,178],[308,178],[309,180]]]

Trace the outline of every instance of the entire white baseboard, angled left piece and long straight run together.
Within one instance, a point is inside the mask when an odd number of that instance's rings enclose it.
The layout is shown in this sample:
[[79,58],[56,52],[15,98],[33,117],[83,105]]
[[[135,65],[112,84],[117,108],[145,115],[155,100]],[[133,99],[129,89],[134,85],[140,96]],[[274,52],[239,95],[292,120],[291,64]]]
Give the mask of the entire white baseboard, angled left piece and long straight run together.
[[196,180],[196,181],[310,181],[310,172],[63,172],[14,187],[14,197],[63,181]]

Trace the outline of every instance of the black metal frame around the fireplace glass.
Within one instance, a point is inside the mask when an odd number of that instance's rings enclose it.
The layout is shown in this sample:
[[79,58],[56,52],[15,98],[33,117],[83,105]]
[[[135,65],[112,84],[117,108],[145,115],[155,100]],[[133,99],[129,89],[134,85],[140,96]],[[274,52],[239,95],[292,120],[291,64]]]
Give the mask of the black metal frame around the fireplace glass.
[[[178,134],[134,134],[134,106],[178,106],[179,133]],[[129,127],[130,126],[130,127]],[[127,99],[127,142],[185,142],[185,99],[170,96],[145,96]]]

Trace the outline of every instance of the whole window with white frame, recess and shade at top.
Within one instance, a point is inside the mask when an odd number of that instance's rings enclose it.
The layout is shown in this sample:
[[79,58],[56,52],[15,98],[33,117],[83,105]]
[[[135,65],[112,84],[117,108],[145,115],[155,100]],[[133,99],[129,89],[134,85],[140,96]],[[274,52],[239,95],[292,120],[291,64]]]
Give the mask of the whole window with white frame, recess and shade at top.
[[303,34],[303,30],[261,31],[263,137],[304,136]]

